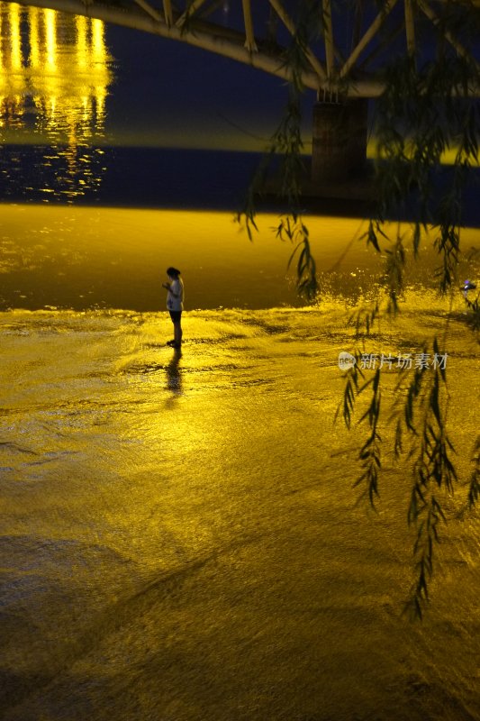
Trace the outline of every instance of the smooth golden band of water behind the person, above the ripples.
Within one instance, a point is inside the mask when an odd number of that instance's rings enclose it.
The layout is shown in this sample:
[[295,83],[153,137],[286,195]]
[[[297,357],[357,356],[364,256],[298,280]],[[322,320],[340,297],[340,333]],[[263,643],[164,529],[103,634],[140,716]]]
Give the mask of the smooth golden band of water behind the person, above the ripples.
[[[4,205],[2,214],[0,309],[162,310],[161,282],[169,265],[182,271],[186,310],[304,305],[295,292],[294,269],[287,273],[293,246],[276,238],[274,214],[258,216],[253,242],[229,212]],[[306,222],[322,307],[329,298],[350,310],[375,299],[382,292],[385,257],[360,240],[366,222],[328,216]],[[479,248],[480,230],[465,229],[462,242],[466,250]],[[418,262],[412,252],[409,257],[407,291],[415,292],[420,310],[437,306],[438,255],[425,242]],[[478,254],[464,261],[459,274],[479,283]],[[456,299],[464,309],[459,290]],[[443,306],[448,299],[441,300],[439,312]]]

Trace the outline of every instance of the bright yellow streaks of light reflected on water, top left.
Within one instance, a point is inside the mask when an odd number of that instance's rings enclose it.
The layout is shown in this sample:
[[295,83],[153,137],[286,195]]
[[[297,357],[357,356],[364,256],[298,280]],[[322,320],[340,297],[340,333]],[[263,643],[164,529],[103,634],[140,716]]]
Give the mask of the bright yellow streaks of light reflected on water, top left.
[[104,23],[49,9],[0,3],[0,137],[4,143],[49,145],[68,199],[101,181],[105,98],[113,80]]

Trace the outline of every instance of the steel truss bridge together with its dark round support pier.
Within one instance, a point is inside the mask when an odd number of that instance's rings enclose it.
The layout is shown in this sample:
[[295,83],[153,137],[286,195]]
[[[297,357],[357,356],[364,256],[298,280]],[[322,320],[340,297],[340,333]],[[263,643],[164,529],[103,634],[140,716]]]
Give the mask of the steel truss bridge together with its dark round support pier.
[[[289,53],[300,50],[296,80],[317,93],[312,177],[348,177],[365,159],[367,100],[385,90],[385,61],[424,63],[455,53],[480,68],[480,42],[444,25],[446,11],[480,21],[480,0],[16,0],[97,18],[184,42],[292,80]],[[302,17],[303,13],[307,13]],[[475,23],[474,23],[475,24]],[[476,88],[470,92],[478,93]],[[340,102],[341,99],[341,102]]]

